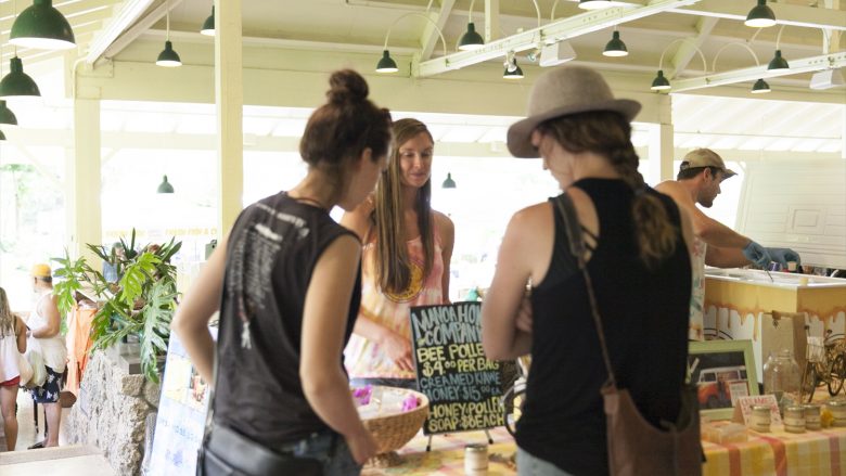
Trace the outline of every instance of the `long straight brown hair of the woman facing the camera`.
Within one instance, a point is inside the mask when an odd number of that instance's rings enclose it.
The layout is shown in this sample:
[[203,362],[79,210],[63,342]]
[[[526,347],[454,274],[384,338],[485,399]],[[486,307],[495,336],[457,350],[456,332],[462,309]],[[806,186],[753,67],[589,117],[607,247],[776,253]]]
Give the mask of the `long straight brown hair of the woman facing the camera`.
[[[402,194],[401,169],[399,166],[399,146],[420,133],[425,133],[434,143],[426,125],[416,119],[400,119],[394,123],[394,145],[387,170],[376,185],[375,207],[371,215],[376,232],[375,269],[376,280],[383,291],[401,293],[411,284],[411,260],[406,241],[406,220],[402,214],[405,198]],[[432,179],[418,189],[414,198],[414,211],[418,214],[420,240],[423,243],[423,278],[428,276],[435,254],[435,237],[432,224]]]

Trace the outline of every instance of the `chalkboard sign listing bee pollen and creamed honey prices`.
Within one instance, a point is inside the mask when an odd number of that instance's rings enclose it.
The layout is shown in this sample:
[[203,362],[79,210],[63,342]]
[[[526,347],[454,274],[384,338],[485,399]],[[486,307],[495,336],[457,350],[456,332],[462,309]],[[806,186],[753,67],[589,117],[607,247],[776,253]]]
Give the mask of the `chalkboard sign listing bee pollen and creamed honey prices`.
[[418,387],[430,400],[423,433],[504,425],[500,363],[482,348],[482,304],[411,308]]

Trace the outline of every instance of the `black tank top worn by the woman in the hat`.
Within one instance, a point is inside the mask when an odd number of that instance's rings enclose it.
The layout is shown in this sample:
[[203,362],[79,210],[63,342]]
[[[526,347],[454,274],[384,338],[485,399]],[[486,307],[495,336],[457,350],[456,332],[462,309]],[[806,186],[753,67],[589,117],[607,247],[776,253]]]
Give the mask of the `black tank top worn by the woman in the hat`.
[[[691,267],[681,232],[676,253],[655,271],[638,257],[631,202],[620,180],[574,183],[593,201],[599,242],[588,271],[593,281],[617,384],[628,388],[653,424],[676,421],[685,374]],[[651,189],[679,226],[679,211]],[[575,475],[605,475],[605,415],[600,387],[607,379],[585,279],[569,253],[555,211],[550,269],[531,292],[531,369],[517,445]]]

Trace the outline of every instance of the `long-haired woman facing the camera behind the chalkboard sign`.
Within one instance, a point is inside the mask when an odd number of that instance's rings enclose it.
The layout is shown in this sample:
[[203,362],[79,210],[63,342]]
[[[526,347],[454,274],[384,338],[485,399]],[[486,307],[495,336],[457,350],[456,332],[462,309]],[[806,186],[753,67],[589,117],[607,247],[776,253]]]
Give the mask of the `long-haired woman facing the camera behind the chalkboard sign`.
[[344,352],[357,386],[416,388],[409,308],[449,301],[454,227],[430,205],[434,147],[420,120],[394,123],[375,195],[341,219],[364,243],[361,309]]

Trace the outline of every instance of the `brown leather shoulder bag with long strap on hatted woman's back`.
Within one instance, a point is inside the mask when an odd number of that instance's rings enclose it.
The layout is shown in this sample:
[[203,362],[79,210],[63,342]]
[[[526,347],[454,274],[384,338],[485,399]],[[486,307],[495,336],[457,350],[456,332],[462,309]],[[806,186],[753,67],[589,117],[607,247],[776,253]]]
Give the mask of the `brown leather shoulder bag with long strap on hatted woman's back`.
[[700,436],[700,411],[696,387],[683,385],[681,408],[675,423],[662,422],[664,428],[656,428],[641,415],[631,395],[617,387],[611,357],[605,344],[597,298],[585,265],[585,243],[579,230],[576,209],[569,196],[562,193],[555,198],[555,206],[564,219],[571,253],[576,257],[585,276],[593,321],[599,333],[602,359],[608,372],[608,381],[602,387],[605,421],[607,424],[608,471],[613,476],[675,475],[698,476],[702,474],[702,440]]

